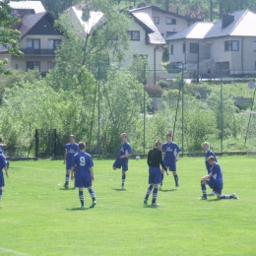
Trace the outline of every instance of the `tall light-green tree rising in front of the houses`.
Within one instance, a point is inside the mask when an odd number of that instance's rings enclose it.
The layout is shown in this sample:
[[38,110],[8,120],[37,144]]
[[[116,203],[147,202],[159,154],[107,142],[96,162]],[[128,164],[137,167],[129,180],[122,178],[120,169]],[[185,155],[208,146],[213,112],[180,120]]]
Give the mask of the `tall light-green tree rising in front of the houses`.
[[[130,43],[127,34],[130,19],[126,12],[119,12],[110,3],[110,0],[96,0],[84,11],[103,13],[99,23],[89,33],[85,32],[82,25],[71,24],[70,14],[60,16],[56,26],[69,40],[56,51],[57,67],[47,76],[48,83],[55,90],[69,90],[73,76],[79,73],[82,66],[97,75],[99,61],[103,70],[109,62],[123,60]],[[78,80],[81,82],[79,77]]]

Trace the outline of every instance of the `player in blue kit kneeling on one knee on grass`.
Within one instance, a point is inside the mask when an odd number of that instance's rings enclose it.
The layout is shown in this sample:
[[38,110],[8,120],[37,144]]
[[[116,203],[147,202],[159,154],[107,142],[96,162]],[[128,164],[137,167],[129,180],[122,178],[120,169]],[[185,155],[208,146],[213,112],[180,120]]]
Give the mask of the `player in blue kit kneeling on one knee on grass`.
[[218,162],[216,162],[213,156],[209,157],[208,161],[212,165],[212,168],[211,172],[201,179],[201,188],[203,196],[200,197],[199,199],[207,199],[206,184],[208,184],[213,189],[218,199],[238,199],[238,197],[234,193],[232,195],[222,195],[224,180],[221,166]]

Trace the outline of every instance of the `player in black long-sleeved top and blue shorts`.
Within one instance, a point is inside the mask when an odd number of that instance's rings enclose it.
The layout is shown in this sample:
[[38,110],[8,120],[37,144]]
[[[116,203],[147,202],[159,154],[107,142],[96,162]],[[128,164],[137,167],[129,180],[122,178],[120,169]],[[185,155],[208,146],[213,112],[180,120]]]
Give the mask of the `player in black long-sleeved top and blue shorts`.
[[153,206],[159,206],[157,203],[157,197],[158,197],[158,191],[159,191],[159,185],[161,182],[161,167],[167,171],[167,168],[164,166],[162,157],[161,157],[161,143],[160,140],[156,142],[155,148],[153,150],[150,150],[148,153],[148,165],[150,167],[149,169],[149,188],[146,193],[146,197],[144,199],[144,204],[148,204],[148,199],[151,195],[151,192],[153,190],[153,197],[152,197],[152,205]]

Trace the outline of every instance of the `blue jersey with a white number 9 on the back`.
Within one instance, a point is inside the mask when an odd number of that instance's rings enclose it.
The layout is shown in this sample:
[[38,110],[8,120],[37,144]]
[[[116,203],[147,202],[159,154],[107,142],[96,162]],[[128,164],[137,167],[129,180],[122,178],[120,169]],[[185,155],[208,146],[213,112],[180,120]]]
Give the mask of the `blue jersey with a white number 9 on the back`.
[[89,154],[77,153],[72,160],[72,167],[74,166],[76,166],[76,179],[92,180],[90,168],[94,166],[94,161]]

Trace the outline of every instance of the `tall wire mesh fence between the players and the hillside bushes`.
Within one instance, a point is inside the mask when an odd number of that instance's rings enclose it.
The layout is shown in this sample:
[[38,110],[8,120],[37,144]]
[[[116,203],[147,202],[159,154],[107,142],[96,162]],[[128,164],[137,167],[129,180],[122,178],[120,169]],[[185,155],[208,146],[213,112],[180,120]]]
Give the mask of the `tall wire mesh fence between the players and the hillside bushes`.
[[[256,152],[254,69],[238,76],[234,69],[176,67],[168,73],[145,68],[136,70],[133,82],[130,77],[123,80],[127,70],[111,71],[112,80],[109,72],[98,67],[95,74],[92,126],[87,128],[92,132],[75,131],[78,140],[86,141],[90,154],[115,155],[123,132],[134,155],[147,154],[158,139],[164,141],[167,132],[187,155],[202,154],[205,141],[219,154]],[[64,128],[34,131],[30,146],[22,150],[35,157],[63,156],[69,133]]]

